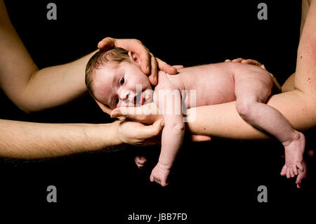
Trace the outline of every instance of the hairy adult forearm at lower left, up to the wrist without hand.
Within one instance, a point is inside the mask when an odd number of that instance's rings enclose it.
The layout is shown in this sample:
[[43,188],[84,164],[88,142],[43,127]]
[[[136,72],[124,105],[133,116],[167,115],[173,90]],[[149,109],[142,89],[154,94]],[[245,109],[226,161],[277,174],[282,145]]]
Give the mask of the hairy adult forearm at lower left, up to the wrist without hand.
[[41,124],[0,119],[0,156],[58,157],[121,145],[112,124]]

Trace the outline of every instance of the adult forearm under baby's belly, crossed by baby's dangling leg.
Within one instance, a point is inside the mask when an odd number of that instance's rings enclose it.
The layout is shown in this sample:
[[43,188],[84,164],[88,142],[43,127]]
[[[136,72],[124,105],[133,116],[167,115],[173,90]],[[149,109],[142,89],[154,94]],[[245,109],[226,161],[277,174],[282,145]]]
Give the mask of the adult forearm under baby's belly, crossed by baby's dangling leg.
[[[194,134],[233,139],[268,139],[269,137],[246,123],[236,111],[235,102],[196,107],[196,119],[187,123]],[[301,91],[273,95],[268,105],[275,107],[295,129],[303,131],[316,125],[316,104]],[[194,110],[188,111],[192,116]]]

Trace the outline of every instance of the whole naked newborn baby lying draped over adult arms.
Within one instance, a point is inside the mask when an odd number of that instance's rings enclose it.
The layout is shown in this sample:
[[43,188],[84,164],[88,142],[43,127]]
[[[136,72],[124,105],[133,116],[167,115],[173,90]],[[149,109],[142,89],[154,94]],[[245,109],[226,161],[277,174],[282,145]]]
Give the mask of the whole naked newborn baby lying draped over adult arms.
[[265,104],[273,81],[270,73],[261,67],[222,62],[185,67],[178,70],[177,75],[159,71],[153,92],[149,79],[140,70],[138,55],[114,48],[98,51],[88,61],[86,86],[96,100],[111,109],[143,105],[152,100],[157,104],[163,114],[164,129],[159,162],[150,180],[162,186],[168,185],[171,167],[183,142],[184,106],[199,107],[234,100],[242,119],[284,145],[285,164],[281,175],[289,178],[298,175],[298,169],[303,172],[305,137],[278,110]]

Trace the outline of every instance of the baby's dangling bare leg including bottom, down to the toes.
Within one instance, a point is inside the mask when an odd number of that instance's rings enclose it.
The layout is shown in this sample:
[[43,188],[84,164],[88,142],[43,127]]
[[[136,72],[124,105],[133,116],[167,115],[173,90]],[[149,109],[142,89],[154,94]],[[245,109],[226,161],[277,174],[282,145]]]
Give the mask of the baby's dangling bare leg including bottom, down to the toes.
[[249,70],[235,74],[236,109],[240,117],[252,126],[270,133],[285,149],[285,165],[281,175],[287,178],[303,171],[305,137],[274,107],[265,102],[271,93],[272,79],[264,70]]

